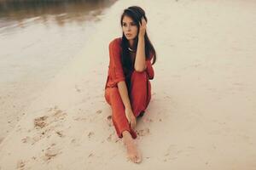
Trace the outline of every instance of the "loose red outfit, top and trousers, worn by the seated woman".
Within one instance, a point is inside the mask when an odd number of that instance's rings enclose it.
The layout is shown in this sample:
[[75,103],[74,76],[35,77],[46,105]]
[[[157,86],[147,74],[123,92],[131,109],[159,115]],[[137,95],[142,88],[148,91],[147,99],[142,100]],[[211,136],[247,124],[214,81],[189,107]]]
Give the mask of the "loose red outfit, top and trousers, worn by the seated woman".
[[[121,64],[121,41],[115,38],[109,43],[109,66],[108,79],[105,85],[105,99],[112,108],[112,120],[119,138],[122,138],[122,132],[127,130],[131,133],[133,139],[137,138],[137,133],[131,129],[125,116],[125,106],[119,95],[117,83],[125,81],[127,84],[127,75],[125,75]],[[150,54],[146,60],[147,69],[142,72],[131,71],[130,83],[127,86],[131,109],[137,117],[142,111],[145,111],[151,99],[151,84],[149,79],[154,78],[154,70],[151,65],[153,54]]]

